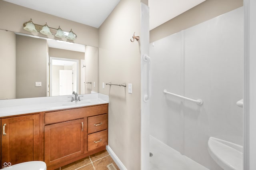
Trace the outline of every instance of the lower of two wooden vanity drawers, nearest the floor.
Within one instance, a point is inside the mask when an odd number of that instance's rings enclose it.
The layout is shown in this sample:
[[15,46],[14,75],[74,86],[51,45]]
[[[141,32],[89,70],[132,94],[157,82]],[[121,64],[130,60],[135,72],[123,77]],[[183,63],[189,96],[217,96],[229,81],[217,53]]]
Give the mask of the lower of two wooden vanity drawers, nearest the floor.
[[108,144],[108,130],[88,134],[88,151]]

